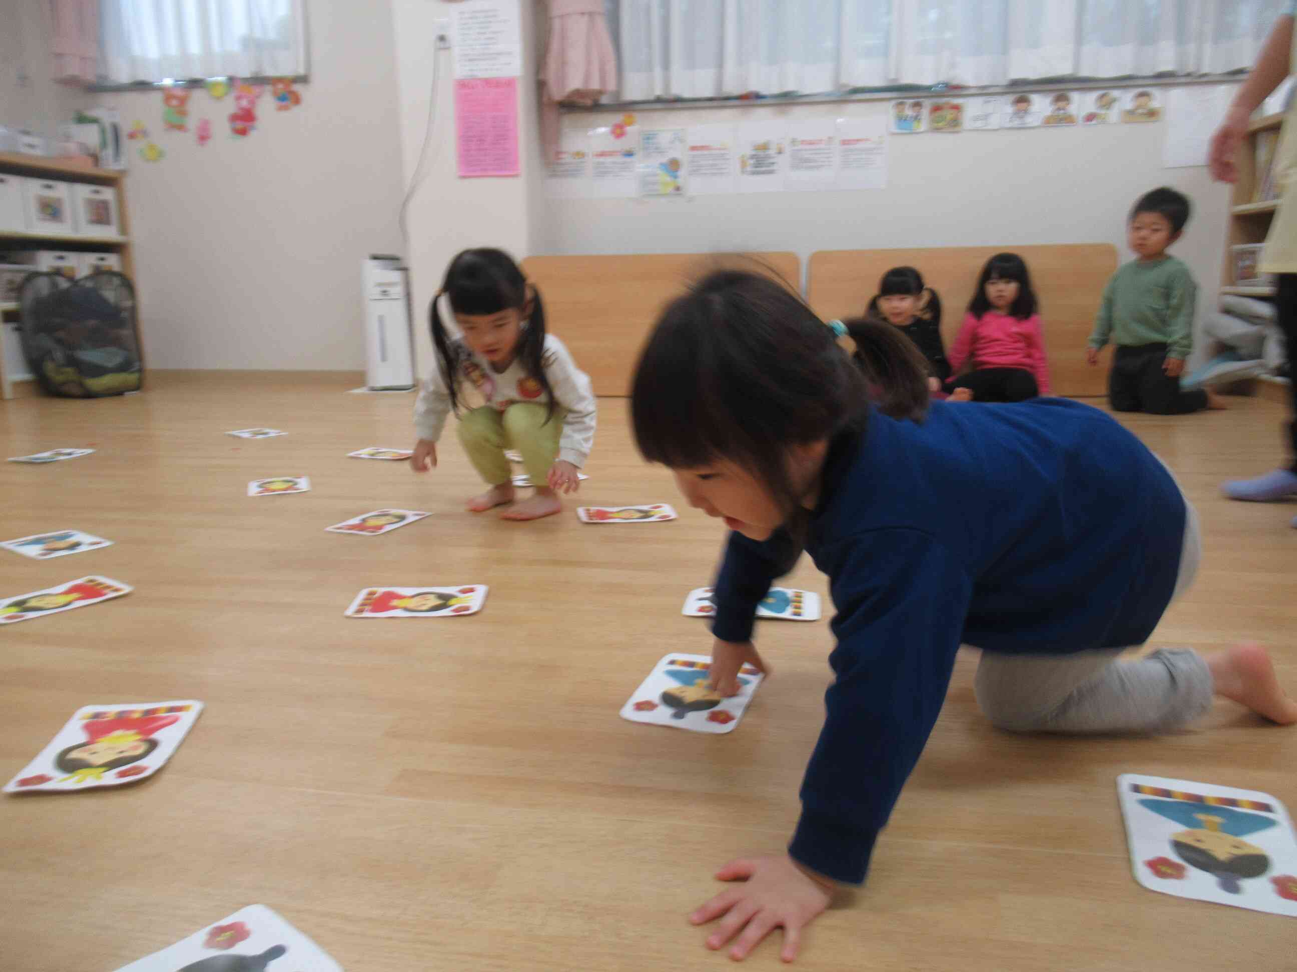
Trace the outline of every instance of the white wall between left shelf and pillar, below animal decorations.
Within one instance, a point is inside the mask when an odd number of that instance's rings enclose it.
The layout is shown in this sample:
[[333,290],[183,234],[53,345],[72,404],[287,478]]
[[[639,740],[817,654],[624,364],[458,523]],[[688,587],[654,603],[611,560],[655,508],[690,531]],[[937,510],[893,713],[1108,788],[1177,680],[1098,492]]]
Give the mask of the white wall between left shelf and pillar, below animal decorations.
[[[246,137],[230,132],[228,96],[195,89],[188,133],[162,131],[161,92],[101,96],[166,152],[148,163],[128,143],[149,367],[364,367],[361,260],[401,248],[389,3],[313,0],[307,22],[302,104],[276,111],[267,91]],[[211,121],[206,146],[200,118]]]

